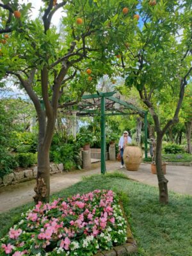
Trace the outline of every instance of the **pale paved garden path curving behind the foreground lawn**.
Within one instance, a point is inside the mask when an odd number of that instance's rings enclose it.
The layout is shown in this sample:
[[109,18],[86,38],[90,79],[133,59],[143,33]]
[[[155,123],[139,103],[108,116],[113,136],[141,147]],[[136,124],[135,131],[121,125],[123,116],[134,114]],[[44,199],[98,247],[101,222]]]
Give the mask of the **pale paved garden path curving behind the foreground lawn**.
[[[116,161],[107,161],[106,169],[108,172],[119,169]],[[166,178],[169,180],[168,189],[177,193],[192,195],[192,168],[191,166],[166,166]],[[121,170],[130,179],[138,180],[144,184],[157,186],[156,175],[150,173],[150,164],[141,164],[138,172],[128,172]],[[93,163],[90,171],[75,171],[69,173],[59,173],[51,176],[51,193],[68,188],[72,184],[81,181],[83,176],[100,173],[100,163]],[[31,202],[35,194],[33,188],[35,180],[7,186],[0,189],[0,213],[8,211],[14,207]]]

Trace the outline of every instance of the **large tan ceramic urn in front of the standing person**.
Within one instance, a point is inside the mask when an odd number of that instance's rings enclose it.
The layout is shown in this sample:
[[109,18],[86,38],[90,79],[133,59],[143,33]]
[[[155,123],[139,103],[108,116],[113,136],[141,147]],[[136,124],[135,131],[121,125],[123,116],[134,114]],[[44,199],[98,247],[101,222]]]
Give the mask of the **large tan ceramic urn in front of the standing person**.
[[137,146],[127,146],[124,149],[124,164],[127,171],[138,171],[142,160],[142,151]]

